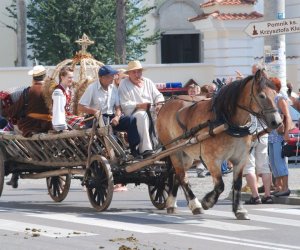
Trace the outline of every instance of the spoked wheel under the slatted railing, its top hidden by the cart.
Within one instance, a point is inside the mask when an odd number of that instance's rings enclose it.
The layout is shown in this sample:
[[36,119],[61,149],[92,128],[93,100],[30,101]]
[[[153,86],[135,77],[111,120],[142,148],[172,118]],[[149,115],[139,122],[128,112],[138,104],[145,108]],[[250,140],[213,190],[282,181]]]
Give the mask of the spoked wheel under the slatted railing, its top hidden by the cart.
[[72,175],[70,174],[46,178],[48,193],[52,200],[61,202],[67,197],[70,190],[71,178]]

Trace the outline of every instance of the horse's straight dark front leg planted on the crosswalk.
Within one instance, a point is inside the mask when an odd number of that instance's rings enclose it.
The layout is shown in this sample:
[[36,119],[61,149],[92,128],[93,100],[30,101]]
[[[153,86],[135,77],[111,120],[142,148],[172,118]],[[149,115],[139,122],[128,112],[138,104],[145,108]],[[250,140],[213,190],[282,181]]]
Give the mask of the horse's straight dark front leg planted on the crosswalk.
[[242,171],[234,178],[232,185],[232,211],[238,220],[249,220],[248,211],[243,208],[241,201]]

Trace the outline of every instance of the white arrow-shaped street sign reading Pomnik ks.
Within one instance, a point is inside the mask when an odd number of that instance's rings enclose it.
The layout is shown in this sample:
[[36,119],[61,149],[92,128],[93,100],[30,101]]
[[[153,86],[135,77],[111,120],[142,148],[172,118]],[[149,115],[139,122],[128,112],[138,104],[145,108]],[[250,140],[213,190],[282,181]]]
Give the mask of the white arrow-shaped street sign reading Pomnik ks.
[[300,32],[300,17],[250,23],[244,30],[251,37],[276,36]]

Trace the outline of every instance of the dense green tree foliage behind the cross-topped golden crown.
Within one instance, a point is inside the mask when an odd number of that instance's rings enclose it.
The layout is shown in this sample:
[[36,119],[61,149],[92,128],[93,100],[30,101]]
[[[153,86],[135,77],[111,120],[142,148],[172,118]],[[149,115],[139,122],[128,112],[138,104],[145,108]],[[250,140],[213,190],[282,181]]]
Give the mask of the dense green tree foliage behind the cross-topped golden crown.
[[[117,1],[117,0],[115,0]],[[112,0],[30,0],[27,6],[28,43],[31,59],[52,65],[71,58],[79,50],[75,43],[83,33],[95,41],[88,48],[96,59],[114,62],[116,2]],[[153,7],[142,6],[142,0],[126,3],[127,60],[139,59],[147,46],[154,44],[158,34],[144,37],[144,16]]]

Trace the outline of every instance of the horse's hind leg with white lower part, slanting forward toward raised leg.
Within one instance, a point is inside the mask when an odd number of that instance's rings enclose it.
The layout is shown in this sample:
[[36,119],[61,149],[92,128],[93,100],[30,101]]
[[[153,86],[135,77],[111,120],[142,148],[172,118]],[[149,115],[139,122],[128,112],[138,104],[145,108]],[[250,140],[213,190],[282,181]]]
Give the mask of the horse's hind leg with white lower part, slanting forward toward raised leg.
[[184,192],[185,198],[188,202],[188,206],[190,208],[190,210],[192,211],[192,213],[195,214],[203,214],[203,208],[201,206],[201,203],[199,202],[199,200],[197,199],[197,197],[194,195],[192,189],[191,189],[191,185],[188,181],[187,178],[187,174],[186,172],[184,173],[184,178],[181,182],[181,187],[182,190]]

